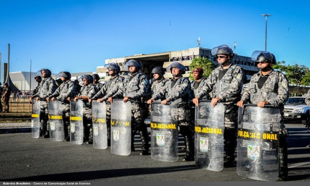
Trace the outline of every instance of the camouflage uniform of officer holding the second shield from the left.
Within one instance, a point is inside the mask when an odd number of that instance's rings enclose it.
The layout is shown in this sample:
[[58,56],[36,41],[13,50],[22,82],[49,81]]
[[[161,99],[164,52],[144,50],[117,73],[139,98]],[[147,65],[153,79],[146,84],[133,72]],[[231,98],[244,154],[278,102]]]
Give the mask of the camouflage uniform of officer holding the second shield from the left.
[[56,91],[50,96],[50,98],[55,97],[57,100],[61,101],[62,117],[64,121],[64,137],[67,138],[70,135],[70,102],[67,98],[74,98],[76,95],[77,86],[71,80],[63,82],[56,89]]

